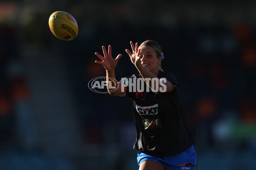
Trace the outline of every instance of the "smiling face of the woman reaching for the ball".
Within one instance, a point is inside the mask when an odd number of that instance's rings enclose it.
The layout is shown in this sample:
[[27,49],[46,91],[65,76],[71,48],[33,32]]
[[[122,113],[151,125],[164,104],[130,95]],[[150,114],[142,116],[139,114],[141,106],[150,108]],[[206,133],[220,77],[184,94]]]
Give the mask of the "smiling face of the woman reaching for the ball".
[[151,46],[141,46],[140,54],[143,55],[141,64],[151,73],[158,74],[158,64],[162,61],[161,57],[157,57],[157,53]]

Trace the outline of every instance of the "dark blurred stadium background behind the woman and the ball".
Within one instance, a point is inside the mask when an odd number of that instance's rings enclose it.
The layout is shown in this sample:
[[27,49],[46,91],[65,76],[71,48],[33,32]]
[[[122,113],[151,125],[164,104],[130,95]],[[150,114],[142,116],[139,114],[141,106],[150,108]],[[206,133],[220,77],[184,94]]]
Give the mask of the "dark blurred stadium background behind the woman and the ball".
[[[79,33],[58,40],[54,11]],[[0,170],[136,170],[131,101],[96,94],[95,52],[155,40],[175,74],[198,170],[256,170],[256,2],[0,0]]]

